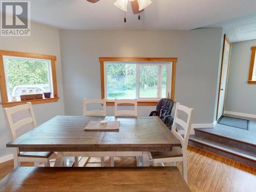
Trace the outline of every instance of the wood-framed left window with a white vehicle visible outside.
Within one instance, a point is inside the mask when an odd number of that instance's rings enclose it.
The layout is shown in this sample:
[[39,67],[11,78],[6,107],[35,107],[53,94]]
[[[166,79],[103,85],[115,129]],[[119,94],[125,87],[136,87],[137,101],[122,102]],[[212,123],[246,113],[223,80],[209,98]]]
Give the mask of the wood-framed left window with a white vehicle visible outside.
[[32,102],[57,101],[55,56],[11,51],[0,51],[0,56],[0,83],[4,106],[25,102],[20,100],[20,95],[46,92],[51,92],[51,98],[44,98],[43,94],[43,99]]

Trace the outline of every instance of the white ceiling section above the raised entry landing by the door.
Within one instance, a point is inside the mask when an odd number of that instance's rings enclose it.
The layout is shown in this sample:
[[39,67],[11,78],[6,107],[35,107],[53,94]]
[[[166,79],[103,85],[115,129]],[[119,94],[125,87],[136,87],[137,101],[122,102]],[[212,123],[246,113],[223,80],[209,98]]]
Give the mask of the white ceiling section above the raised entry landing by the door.
[[223,27],[232,42],[256,39],[256,13],[207,27]]

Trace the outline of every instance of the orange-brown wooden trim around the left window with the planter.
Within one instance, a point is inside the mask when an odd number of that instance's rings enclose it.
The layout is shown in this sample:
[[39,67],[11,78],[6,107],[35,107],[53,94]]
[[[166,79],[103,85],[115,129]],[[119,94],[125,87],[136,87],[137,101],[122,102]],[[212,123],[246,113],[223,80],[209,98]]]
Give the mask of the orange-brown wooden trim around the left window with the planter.
[[[27,58],[51,60],[52,84],[53,84],[54,97],[45,98],[45,99],[27,100],[27,101],[8,101],[3,56],[15,56],[15,57],[27,57]],[[57,102],[59,97],[58,97],[58,91],[57,91],[55,61],[56,61],[56,56],[52,56],[52,55],[42,55],[42,54],[35,54],[35,53],[24,53],[24,52],[0,50],[0,90],[1,90],[3,107],[7,108],[10,106],[16,106],[19,104],[24,104],[25,102],[29,102],[29,101],[32,102],[33,104]]]

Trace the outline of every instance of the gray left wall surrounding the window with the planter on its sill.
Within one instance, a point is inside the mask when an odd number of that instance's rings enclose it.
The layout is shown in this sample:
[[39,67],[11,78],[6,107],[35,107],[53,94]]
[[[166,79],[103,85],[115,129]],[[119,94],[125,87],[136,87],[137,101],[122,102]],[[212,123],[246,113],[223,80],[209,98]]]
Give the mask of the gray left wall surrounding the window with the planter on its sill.
[[[31,27],[30,37],[0,36],[0,49],[57,56],[56,73],[60,98],[58,102],[33,105],[37,124],[41,124],[56,115],[64,114],[59,34],[57,29],[48,26],[32,23]],[[9,141],[10,135],[5,122],[4,111],[0,105],[0,158],[12,153],[10,148],[6,148],[6,143]]]

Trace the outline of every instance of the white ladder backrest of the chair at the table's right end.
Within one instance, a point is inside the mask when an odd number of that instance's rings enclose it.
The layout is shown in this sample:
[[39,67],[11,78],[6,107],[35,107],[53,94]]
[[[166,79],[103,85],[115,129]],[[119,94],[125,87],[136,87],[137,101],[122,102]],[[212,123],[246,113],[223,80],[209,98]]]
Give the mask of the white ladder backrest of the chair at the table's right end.
[[[181,105],[180,103],[176,103],[174,123],[171,131],[174,134],[174,136],[181,142],[182,154],[184,154],[185,151],[187,150],[188,138],[191,130],[191,114],[193,110],[194,109],[188,108],[187,106]],[[178,118],[180,111],[187,114],[186,122]],[[177,124],[179,124],[185,130],[184,138],[177,132]]]

